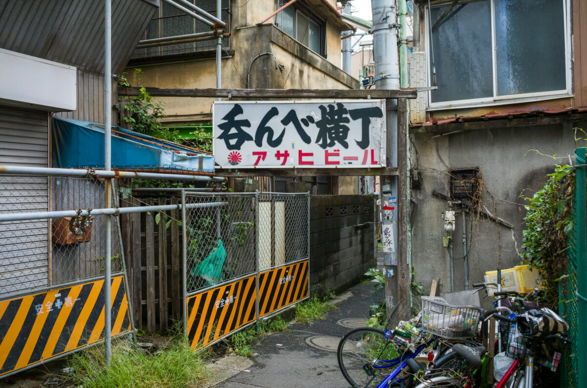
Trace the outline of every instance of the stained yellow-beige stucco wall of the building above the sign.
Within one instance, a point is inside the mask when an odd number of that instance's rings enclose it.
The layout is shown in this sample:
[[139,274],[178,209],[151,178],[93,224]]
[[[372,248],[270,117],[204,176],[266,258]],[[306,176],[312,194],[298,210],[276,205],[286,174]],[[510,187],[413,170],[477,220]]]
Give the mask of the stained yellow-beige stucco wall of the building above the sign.
[[[247,13],[248,15],[248,13]],[[275,60],[264,55],[251,67],[252,88],[274,89],[356,89],[359,81],[272,25],[234,30],[234,55],[222,59],[222,87],[247,88],[251,61],[259,53],[272,52],[284,64],[284,74],[275,69]],[[340,43],[340,39],[339,39]],[[340,49],[339,49],[340,53]],[[214,88],[215,59],[184,60],[140,66],[140,83],[147,87]],[[129,80],[133,69],[127,68]],[[136,83],[134,83],[136,84]],[[168,115],[164,121],[210,120],[214,98],[160,98]]]

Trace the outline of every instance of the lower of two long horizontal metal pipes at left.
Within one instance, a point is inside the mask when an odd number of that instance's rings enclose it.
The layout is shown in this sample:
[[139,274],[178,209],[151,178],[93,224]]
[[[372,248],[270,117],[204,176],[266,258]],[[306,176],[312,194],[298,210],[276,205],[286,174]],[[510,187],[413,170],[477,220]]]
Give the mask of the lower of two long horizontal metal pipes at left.
[[[204,209],[207,207],[226,206],[226,202],[208,202],[208,203],[188,203],[185,205],[188,209]],[[78,210],[59,210],[56,212],[30,212],[30,213],[6,213],[0,214],[0,222],[25,221],[25,220],[44,220],[63,217],[77,217],[77,216],[112,216],[129,213],[144,213],[144,212],[164,212],[166,210],[181,209],[181,205],[153,205],[153,206],[133,206],[133,207],[104,207],[103,209],[90,209],[90,211],[80,209]]]

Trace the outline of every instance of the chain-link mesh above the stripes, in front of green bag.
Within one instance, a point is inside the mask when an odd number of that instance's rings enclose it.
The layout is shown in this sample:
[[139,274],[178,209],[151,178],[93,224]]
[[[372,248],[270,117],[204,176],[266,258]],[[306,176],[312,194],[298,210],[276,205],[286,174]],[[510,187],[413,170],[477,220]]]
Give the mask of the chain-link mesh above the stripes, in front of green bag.
[[[308,195],[186,193],[187,293],[309,257]],[[258,265],[257,265],[258,261]]]

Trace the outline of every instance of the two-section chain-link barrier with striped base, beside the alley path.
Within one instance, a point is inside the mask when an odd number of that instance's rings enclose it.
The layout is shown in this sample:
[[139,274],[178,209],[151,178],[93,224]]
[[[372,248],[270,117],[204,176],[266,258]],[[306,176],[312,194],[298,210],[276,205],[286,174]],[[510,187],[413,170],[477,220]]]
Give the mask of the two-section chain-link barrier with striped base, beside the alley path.
[[182,202],[191,348],[309,297],[308,193],[183,192]]

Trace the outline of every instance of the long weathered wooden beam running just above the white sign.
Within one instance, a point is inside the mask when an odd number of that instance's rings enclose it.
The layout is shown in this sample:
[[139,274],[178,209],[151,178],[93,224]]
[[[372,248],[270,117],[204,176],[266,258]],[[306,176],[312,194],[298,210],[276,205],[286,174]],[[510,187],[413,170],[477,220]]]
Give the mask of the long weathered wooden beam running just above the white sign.
[[[416,89],[170,89],[147,87],[152,97],[224,98],[416,98]],[[140,96],[139,87],[118,87],[119,96]]]

